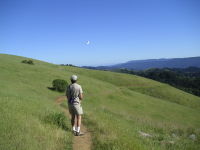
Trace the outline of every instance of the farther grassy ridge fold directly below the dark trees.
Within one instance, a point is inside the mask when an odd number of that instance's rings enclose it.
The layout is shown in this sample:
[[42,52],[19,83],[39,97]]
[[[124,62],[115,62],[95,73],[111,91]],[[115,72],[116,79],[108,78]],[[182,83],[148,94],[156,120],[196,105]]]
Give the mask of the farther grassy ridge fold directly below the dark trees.
[[67,70],[88,76],[90,78],[109,82],[118,87],[125,87],[161,100],[167,100],[200,110],[199,97],[176,89],[168,84],[163,84],[135,75],[113,73],[108,71],[77,69],[72,67],[68,67]]

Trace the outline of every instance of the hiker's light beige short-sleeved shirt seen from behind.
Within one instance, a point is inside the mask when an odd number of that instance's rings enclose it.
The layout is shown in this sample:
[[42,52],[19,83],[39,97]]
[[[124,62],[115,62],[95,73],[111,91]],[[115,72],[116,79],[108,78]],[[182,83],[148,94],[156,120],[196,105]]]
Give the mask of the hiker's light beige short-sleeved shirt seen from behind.
[[66,96],[69,98],[68,102],[73,101],[73,103],[80,103],[79,95],[81,93],[83,93],[83,90],[79,84],[70,84],[66,91]]

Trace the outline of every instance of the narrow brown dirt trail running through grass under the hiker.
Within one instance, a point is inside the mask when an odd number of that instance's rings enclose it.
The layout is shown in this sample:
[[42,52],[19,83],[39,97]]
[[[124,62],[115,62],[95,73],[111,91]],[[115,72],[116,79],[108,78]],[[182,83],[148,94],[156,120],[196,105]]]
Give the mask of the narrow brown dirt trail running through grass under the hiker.
[[[65,96],[59,96],[56,98],[56,103],[60,104],[66,99]],[[70,114],[67,109],[62,108],[67,117],[70,117]],[[81,132],[84,133],[82,136],[74,136],[73,138],[73,150],[91,150],[92,139],[91,134],[88,129],[81,124]]]

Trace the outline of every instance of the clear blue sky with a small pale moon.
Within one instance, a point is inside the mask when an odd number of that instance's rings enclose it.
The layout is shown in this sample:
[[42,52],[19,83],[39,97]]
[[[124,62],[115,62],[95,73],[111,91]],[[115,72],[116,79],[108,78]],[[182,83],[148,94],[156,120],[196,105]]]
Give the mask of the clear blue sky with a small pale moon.
[[200,0],[0,0],[0,53],[79,66],[200,56]]

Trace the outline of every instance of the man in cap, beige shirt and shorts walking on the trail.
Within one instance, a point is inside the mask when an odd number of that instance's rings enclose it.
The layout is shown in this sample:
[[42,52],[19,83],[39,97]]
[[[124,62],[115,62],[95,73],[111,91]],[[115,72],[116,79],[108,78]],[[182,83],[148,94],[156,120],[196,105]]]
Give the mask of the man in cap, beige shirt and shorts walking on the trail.
[[68,99],[69,112],[71,114],[72,131],[74,135],[79,136],[81,135],[81,115],[83,114],[83,109],[81,107],[83,90],[82,87],[76,83],[77,79],[78,77],[76,75],[71,76],[71,84],[67,87],[66,96]]

